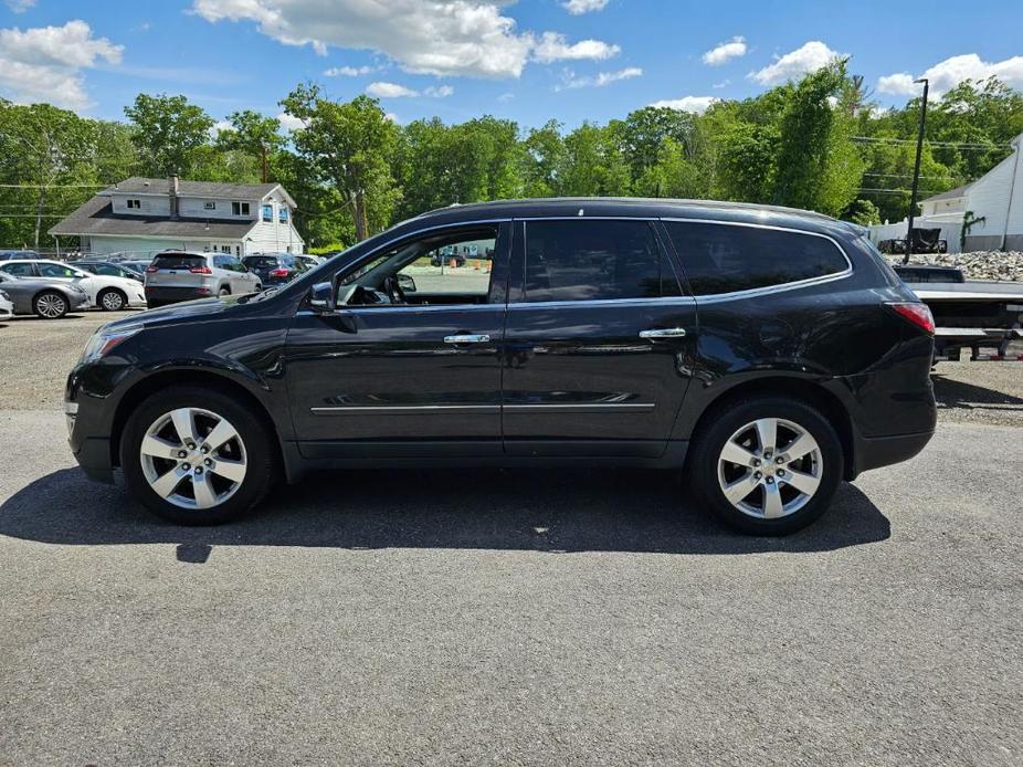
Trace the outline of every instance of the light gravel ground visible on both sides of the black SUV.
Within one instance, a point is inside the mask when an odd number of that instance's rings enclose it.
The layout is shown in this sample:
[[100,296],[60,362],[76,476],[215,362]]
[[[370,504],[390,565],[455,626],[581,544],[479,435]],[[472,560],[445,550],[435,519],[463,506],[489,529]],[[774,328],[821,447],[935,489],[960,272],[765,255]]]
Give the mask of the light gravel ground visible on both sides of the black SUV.
[[[130,312],[0,324],[0,410],[62,407],[64,380],[88,336],[125,314]],[[1019,354],[1023,345],[1010,356]],[[1023,363],[939,363],[935,392],[942,421],[1023,427]]]

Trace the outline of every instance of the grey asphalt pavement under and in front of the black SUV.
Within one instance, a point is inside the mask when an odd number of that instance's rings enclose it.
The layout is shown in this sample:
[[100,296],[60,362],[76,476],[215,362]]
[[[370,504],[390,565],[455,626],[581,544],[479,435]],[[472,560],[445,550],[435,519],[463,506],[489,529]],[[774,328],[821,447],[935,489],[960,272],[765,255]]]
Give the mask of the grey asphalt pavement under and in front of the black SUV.
[[782,539],[658,472],[338,472],[219,528],[0,411],[0,764],[1023,763],[1023,431]]

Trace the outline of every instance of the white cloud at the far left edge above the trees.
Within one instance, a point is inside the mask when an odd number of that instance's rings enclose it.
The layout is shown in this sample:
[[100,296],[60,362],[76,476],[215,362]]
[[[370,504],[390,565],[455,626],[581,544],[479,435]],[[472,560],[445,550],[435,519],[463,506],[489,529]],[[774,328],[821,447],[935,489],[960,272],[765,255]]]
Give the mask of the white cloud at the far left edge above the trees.
[[94,38],[84,21],[24,31],[0,30],[0,94],[18,102],[49,102],[82,109],[88,106],[82,70],[103,59],[120,62],[122,45]]

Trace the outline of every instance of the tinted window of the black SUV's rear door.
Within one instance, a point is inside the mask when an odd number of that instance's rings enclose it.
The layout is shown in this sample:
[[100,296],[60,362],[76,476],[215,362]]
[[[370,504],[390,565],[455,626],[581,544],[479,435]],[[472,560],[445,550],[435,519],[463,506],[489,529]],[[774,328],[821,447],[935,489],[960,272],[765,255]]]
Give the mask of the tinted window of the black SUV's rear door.
[[527,221],[526,301],[681,295],[646,221]]

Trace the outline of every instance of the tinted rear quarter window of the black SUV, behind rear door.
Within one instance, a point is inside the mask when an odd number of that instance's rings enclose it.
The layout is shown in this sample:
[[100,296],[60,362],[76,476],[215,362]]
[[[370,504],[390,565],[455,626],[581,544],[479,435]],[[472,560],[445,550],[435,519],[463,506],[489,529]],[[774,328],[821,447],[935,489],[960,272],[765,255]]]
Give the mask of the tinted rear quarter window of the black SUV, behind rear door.
[[813,234],[718,223],[664,225],[695,295],[783,285],[848,269],[831,240]]

